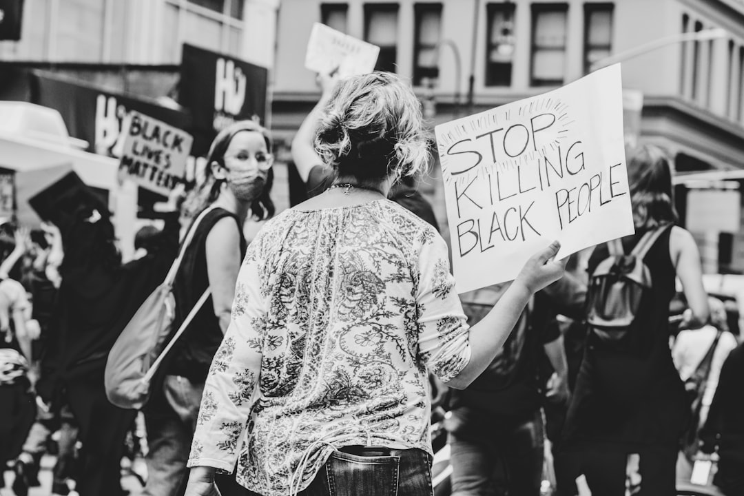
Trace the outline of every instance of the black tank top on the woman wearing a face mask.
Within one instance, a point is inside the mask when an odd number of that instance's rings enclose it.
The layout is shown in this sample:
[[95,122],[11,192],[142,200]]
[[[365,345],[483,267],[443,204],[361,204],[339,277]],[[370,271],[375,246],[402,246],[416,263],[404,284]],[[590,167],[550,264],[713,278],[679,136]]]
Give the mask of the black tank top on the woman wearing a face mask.
[[[209,286],[207,275],[206,244],[214,225],[220,219],[232,217],[238,223],[237,216],[222,208],[215,208],[208,212],[199,222],[193,240],[186,248],[176,280],[173,283],[173,296],[176,298],[176,316],[173,321],[173,331],[181,326],[188,313],[199,297]],[[246,241],[243,230],[240,231],[240,251],[246,252]],[[186,331],[171,350],[169,363],[165,367],[166,373],[174,376],[184,376],[193,382],[204,382],[207,378],[212,358],[222,343],[222,329],[219,319],[214,315],[212,297],[208,297],[202,308],[193,318]]]

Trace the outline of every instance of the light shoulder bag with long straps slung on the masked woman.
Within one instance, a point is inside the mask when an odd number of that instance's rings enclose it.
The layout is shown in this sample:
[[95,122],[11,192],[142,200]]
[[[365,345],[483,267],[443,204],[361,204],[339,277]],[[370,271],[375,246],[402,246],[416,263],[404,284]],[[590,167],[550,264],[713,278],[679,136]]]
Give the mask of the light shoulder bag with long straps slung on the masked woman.
[[109,402],[119,408],[139,410],[147,403],[155,372],[211,294],[207,288],[168,341],[176,309],[173,281],[199,222],[211,210],[204,210],[193,222],[165,280],[144,300],[109,352],[103,381]]

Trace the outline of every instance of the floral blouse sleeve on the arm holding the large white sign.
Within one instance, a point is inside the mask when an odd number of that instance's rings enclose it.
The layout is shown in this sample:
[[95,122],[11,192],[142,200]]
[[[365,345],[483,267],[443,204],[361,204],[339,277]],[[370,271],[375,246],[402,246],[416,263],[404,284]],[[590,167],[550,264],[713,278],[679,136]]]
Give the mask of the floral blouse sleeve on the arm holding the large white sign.
[[446,382],[470,361],[469,326],[449,271],[447,245],[431,232],[419,255],[418,344],[420,360]]

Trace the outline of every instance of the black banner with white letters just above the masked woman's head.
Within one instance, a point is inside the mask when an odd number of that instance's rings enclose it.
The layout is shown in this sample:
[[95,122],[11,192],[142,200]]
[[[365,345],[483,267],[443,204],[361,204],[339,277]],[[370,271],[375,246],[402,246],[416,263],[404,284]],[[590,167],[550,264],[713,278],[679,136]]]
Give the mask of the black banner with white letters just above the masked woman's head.
[[227,55],[183,46],[179,103],[190,109],[193,155],[206,155],[219,130],[236,120],[266,117],[269,71]]

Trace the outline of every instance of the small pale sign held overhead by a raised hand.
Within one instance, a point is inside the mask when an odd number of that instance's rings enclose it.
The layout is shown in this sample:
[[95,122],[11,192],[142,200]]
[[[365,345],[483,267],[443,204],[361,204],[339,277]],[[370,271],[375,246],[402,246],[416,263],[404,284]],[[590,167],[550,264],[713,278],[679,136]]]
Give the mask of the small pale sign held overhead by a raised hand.
[[307,45],[305,67],[321,74],[334,69],[339,77],[368,74],[374,70],[379,47],[316,22]]

